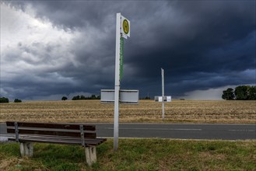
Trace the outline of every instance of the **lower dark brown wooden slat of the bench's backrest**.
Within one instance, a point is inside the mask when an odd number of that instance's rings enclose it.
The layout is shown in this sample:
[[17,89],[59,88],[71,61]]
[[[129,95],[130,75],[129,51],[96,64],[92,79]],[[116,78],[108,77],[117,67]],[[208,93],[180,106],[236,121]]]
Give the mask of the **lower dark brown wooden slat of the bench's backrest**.
[[[15,134],[15,129],[7,128],[7,133]],[[79,132],[26,130],[26,129],[19,129],[19,134],[47,134],[47,135],[55,135],[55,136],[81,137],[81,134]],[[84,137],[96,138],[96,133],[85,132]]]

